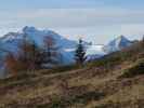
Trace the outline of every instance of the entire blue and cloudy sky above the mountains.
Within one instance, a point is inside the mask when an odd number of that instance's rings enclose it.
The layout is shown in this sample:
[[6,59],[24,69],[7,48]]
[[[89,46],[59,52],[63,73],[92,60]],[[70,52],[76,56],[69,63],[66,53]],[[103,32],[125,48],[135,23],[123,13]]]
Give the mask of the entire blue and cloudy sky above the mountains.
[[144,35],[144,0],[0,0],[0,36],[25,26],[96,44]]

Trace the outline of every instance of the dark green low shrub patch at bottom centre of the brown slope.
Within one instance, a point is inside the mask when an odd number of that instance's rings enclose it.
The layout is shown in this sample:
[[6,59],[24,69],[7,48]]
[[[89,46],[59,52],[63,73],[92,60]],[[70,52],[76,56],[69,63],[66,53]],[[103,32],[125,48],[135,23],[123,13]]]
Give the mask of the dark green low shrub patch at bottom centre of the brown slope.
[[52,100],[50,104],[39,105],[39,108],[68,108],[77,104],[84,106],[91,100],[101,99],[103,96],[105,96],[104,93],[88,92],[84,94],[73,95],[69,98],[55,98],[55,100]]

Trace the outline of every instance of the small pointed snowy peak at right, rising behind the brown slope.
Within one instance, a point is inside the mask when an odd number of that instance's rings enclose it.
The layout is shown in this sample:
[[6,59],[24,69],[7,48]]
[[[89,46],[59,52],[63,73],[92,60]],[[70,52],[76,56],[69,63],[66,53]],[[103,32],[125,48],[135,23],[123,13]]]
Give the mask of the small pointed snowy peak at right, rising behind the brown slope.
[[112,53],[112,52],[122,50],[127,46],[130,46],[131,44],[132,44],[132,41],[127,39],[125,36],[120,36],[120,37],[114,39],[113,41],[110,41],[107,45],[105,45],[103,48],[103,50],[106,53]]

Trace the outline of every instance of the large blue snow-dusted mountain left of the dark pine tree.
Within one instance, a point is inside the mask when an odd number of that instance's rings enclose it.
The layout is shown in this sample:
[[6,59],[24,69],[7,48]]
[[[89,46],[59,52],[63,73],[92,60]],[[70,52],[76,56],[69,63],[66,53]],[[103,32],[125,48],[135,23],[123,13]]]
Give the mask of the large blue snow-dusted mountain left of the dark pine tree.
[[35,27],[24,27],[19,32],[9,32],[8,35],[0,38],[0,50],[1,54],[6,52],[16,53],[18,51],[18,44],[23,41],[24,36],[30,41],[42,48],[45,37],[52,37],[55,40],[55,44],[58,48],[62,56],[64,57],[64,64],[71,63],[73,60],[73,49],[76,48],[77,42],[68,40],[63,36],[52,30],[39,30]]

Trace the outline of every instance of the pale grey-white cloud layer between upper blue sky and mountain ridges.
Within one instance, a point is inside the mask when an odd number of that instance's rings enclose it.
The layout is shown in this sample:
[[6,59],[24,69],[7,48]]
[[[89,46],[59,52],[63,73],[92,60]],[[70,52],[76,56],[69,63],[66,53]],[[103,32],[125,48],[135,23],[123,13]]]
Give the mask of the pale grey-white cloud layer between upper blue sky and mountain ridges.
[[[142,35],[144,27],[143,10],[113,8],[97,9],[37,9],[2,11],[0,28],[22,28],[24,26],[50,28],[64,36],[78,35],[90,40],[105,41],[115,35]],[[6,30],[3,30],[6,31]]]

